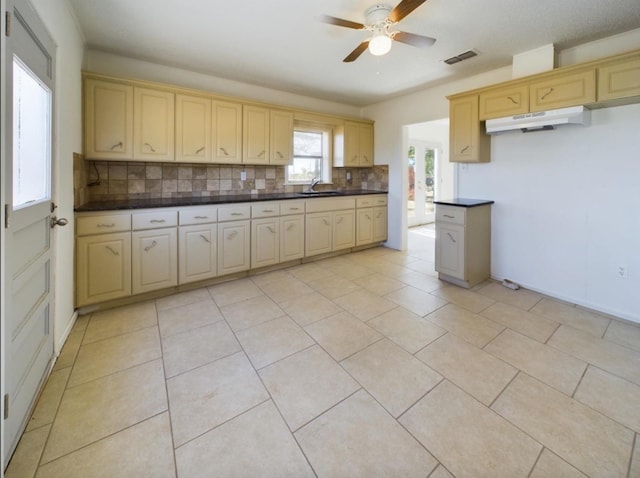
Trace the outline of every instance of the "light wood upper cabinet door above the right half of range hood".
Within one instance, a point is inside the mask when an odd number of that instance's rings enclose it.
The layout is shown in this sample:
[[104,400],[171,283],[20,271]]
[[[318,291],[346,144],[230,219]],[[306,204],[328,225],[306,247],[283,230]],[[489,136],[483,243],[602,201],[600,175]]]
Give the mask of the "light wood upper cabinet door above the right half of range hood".
[[532,81],[529,86],[529,111],[546,111],[579,106],[596,101],[596,70],[553,75]]

